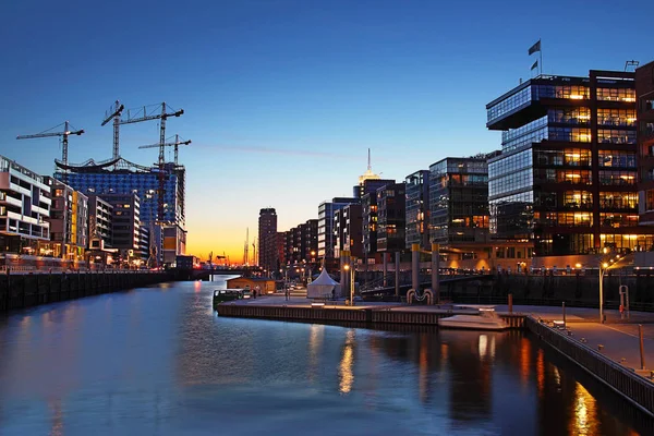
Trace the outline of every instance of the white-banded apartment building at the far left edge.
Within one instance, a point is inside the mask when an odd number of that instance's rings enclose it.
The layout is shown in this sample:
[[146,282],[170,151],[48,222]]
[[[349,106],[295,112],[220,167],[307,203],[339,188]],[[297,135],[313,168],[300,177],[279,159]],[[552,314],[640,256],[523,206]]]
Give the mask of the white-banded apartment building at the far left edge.
[[0,156],[0,252],[38,252],[50,240],[50,186],[44,178]]

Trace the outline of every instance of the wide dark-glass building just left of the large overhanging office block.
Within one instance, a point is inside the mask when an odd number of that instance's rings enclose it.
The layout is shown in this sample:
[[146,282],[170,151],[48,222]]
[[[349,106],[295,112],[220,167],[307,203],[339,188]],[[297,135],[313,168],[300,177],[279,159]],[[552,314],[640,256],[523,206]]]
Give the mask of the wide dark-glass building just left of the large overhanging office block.
[[486,155],[447,157],[429,166],[429,235],[443,246],[488,240]]

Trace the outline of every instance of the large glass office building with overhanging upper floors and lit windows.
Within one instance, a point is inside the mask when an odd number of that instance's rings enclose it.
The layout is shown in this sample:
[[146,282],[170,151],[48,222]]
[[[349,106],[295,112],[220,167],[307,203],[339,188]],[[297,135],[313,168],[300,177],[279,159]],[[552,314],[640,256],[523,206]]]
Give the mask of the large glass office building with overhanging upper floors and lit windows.
[[540,75],[487,106],[501,131],[488,160],[491,233],[536,256],[650,246],[639,228],[634,73]]

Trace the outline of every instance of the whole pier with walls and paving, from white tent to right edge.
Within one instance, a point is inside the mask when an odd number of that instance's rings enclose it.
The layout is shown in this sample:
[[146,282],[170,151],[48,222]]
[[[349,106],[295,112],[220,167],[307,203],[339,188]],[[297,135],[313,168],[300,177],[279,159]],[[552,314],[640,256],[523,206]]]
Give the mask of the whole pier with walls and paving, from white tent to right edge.
[[[632,322],[621,319],[617,311],[607,311],[609,324],[596,322],[595,310],[569,308],[565,327],[558,307],[498,306],[498,315],[509,328],[525,329],[601,383],[622,396],[634,407],[654,416],[654,314],[632,312]],[[261,318],[315,324],[356,323],[361,327],[375,325],[434,326],[438,319],[465,310],[445,306],[409,306],[389,303],[360,303],[346,306],[342,302],[311,303],[304,298],[286,301],[281,295],[257,300],[240,300],[216,304],[219,316]],[[468,312],[470,313],[470,312]],[[557,324],[553,324],[557,320]],[[640,338],[634,335],[644,325],[643,353]]]

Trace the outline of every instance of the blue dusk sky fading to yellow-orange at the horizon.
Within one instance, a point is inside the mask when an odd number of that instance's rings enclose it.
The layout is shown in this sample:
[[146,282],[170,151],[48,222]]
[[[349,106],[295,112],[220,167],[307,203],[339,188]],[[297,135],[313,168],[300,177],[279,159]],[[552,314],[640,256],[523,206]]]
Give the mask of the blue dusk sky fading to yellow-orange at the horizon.
[[[98,3],[93,4],[90,3]],[[278,230],[317,218],[373,171],[398,182],[448,156],[500,148],[485,105],[543,73],[588,75],[654,60],[654,2],[635,0],[5,1],[0,4],[0,154],[43,174],[69,120],[69,161],[111,157],[125,108],[166,101],[186,167],[187,253],[250,252],[259,209]],[[156,121],[123,125],[121,155],[157,160]],[[167,157],[171,158],[168,149]]]

